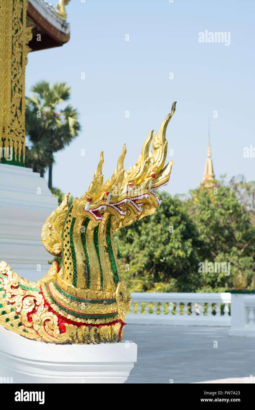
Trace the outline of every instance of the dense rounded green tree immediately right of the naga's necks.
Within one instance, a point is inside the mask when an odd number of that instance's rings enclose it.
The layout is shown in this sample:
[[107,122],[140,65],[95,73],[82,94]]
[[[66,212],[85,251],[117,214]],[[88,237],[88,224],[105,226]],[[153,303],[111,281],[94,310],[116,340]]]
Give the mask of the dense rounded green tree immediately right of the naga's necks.
[[153,215],[122,228],[115,236],[120,268],[131,290],[196,290],[199,274],[194,267],[200,260],[201,244],[196,225],[179,198],[163,193],[162,204]]

